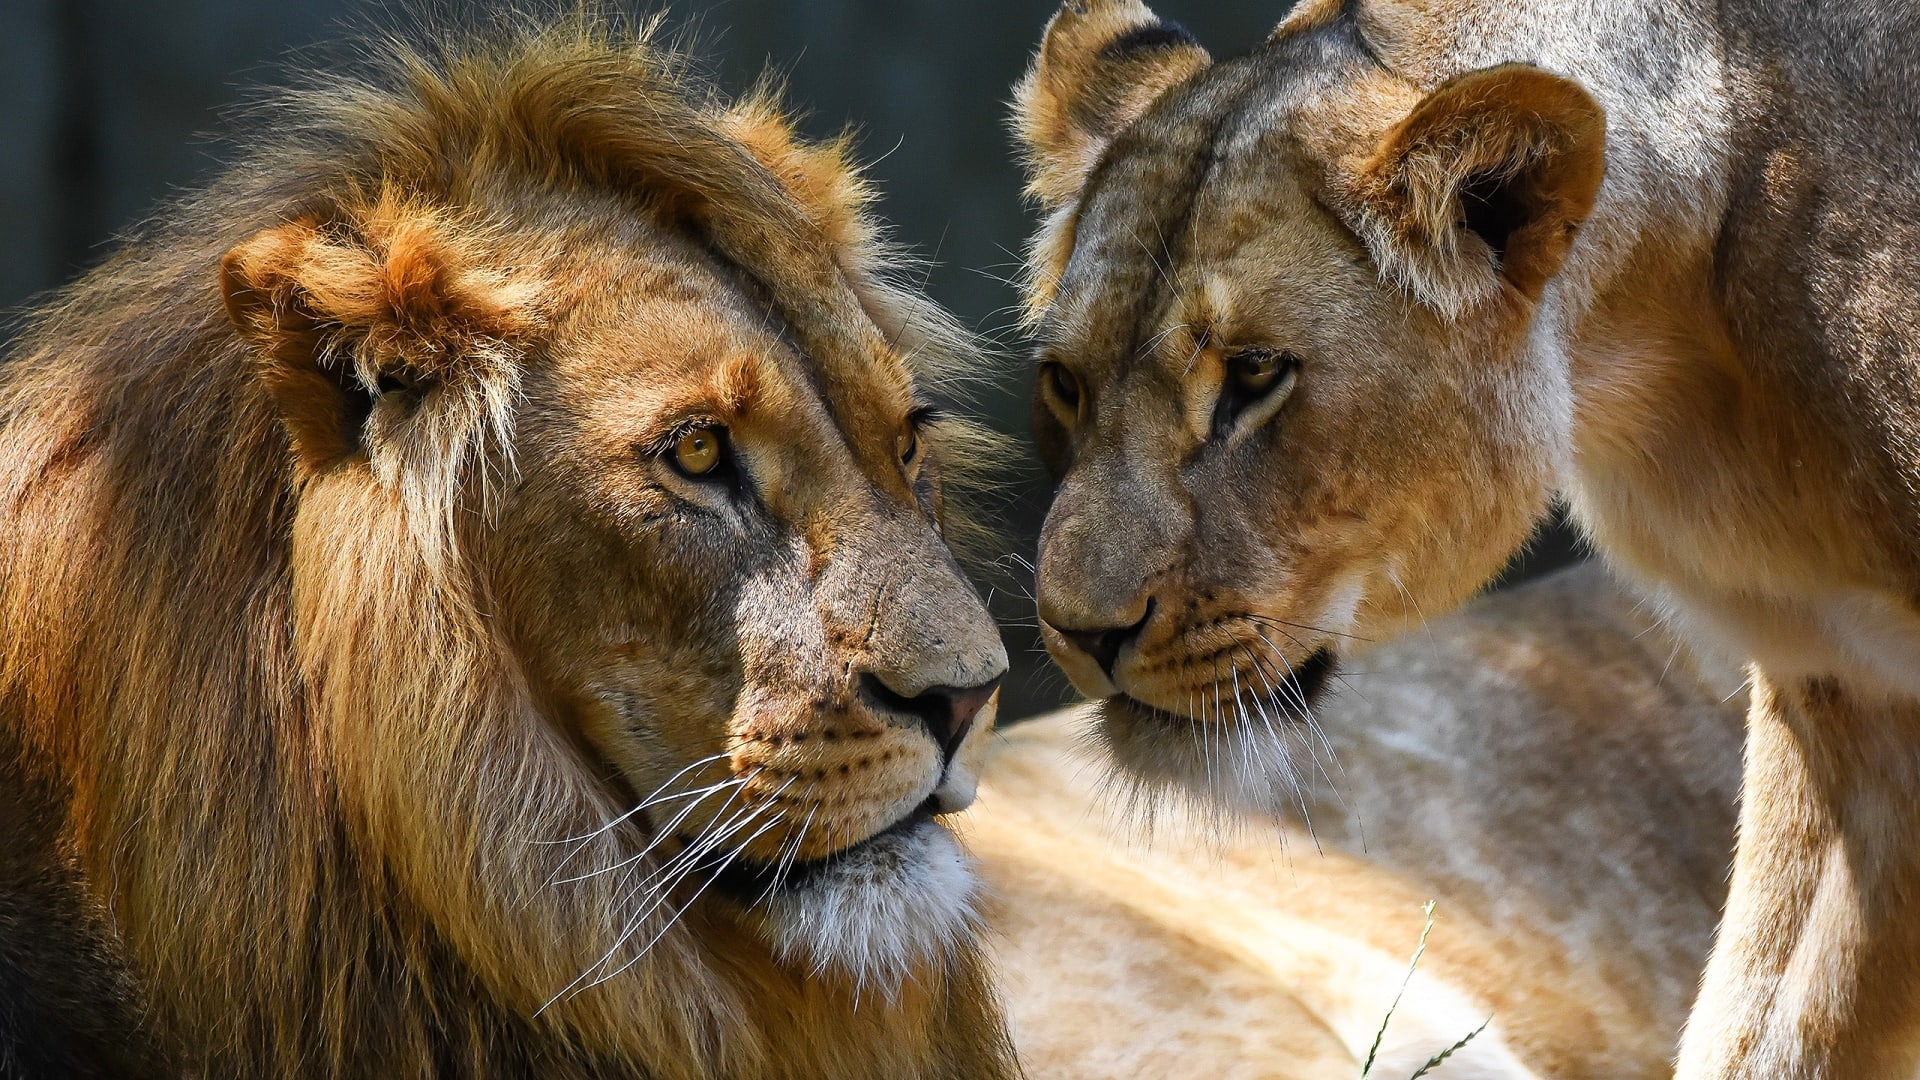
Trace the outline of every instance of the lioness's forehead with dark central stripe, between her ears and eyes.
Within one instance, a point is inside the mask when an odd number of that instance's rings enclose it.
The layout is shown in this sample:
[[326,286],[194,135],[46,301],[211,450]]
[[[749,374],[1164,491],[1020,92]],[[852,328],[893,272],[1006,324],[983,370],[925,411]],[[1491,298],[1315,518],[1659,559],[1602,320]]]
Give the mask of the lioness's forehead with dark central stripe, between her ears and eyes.
[[1302,125],[1327,119],[1294,79],[1302,48],[1348,46],[1288,40],[1223,61],[1114,138],[1081,196],[1043,348],[1094,379],[1148,367],[1179,380],[1200,342],[1346,321],[1329,281],[1373,275],[1298,167],[1313,138]]

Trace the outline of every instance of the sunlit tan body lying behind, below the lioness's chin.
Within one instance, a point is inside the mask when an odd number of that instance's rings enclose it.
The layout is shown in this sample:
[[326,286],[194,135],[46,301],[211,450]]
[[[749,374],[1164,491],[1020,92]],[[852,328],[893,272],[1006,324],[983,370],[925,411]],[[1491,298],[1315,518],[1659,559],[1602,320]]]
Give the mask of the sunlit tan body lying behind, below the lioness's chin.
[[1031,1076],[1354,1080],[1425,899],[1373,1076],[1482,1020],[1432,1076],[1670,1070],[1726,890],[1738,669],[1680,650],[1597,567],[1357,669],[1290,734],[1298,801],[1236,830],[1127,799],[1085,709],[1008,732],[964,828]]

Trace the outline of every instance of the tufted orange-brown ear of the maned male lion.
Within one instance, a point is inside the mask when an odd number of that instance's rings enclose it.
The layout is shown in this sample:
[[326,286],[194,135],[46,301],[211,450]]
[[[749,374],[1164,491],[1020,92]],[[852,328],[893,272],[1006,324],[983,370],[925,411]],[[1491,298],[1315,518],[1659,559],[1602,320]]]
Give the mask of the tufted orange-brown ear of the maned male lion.
[[476,248],[434,211],[382,200],[227,252],[227,315],[307,467],[361,450],[376,415],[401,419],[438,384],[486,377],[534,329],[532,292],[482,269]]

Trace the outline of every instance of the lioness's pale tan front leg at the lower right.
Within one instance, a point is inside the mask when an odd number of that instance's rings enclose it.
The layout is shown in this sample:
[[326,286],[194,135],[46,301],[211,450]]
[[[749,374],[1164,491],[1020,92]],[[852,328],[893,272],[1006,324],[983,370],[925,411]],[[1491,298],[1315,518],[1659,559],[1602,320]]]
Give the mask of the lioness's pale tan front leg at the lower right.
[[1740,846],[1680,1076],[1920,1070],[1920,707],[1755,675]]

